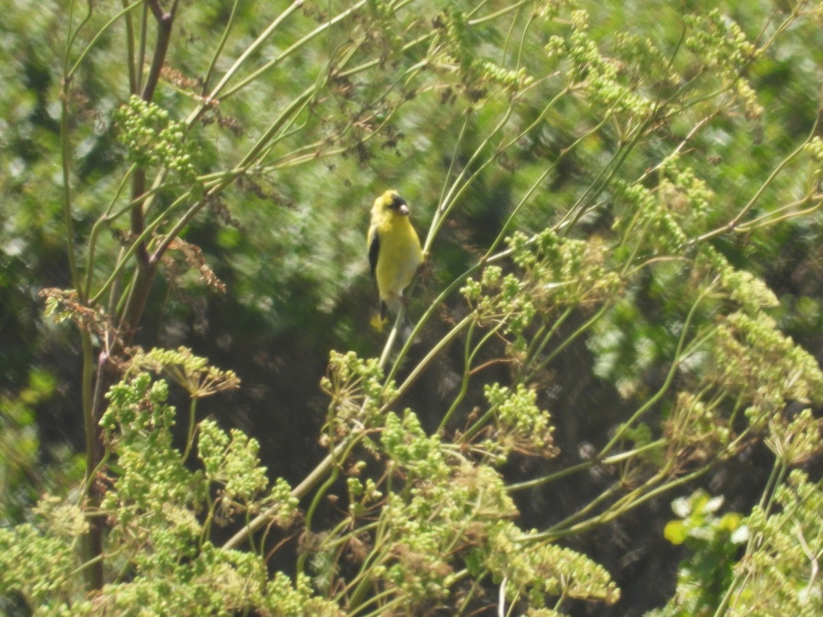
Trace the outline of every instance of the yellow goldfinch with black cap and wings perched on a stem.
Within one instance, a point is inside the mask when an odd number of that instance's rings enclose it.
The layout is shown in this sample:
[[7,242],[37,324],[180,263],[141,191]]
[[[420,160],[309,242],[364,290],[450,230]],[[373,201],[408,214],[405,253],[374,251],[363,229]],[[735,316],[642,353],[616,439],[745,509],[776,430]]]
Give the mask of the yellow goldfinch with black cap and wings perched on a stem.
[[420,239],[409,220],[409,206],[397,191],[374,200],[369,227],[369,264],[380,295],[380,321],[386,309],[397,313],[403,290],[423,262]]

